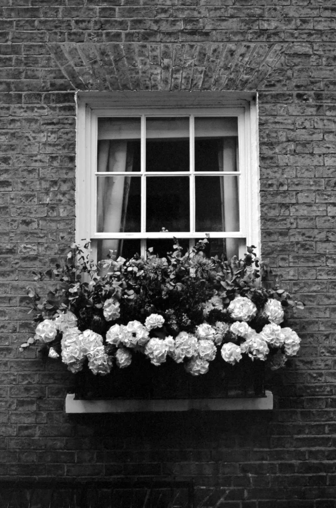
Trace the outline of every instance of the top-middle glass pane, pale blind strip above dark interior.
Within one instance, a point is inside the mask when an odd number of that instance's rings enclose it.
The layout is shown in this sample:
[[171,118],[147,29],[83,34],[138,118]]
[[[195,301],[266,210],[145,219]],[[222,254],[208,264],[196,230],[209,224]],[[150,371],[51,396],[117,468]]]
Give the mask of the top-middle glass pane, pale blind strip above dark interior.
[[189,171],[189,118],[147,118],[146,171]]

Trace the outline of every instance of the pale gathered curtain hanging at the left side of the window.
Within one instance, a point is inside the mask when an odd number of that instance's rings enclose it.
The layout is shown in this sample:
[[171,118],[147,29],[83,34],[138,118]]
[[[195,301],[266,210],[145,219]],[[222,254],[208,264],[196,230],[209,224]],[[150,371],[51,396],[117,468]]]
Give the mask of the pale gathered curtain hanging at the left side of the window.
[[[124,140],[100,140],[98,144],[98,172],[132,171],[133,144]],[[130,177],[118,175],[97,178],[97,231],[123,232],[125,230]],[[99,243],[99,242],[98,242]],[[98,259],[106,258],[109,249],[118,257],[121,240],[102,240]]]

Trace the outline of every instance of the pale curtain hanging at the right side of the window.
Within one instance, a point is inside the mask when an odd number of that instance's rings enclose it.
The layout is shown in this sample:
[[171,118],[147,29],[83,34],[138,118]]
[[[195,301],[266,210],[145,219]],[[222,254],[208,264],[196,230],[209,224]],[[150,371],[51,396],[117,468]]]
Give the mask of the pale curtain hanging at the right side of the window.
[[[219,143],[219,171],[237,171],[238,149],[236,138],[227,137]],[[220,192],[223,231],[239,231],[238,177],[220,177]],[[238,256],[239,238],[225,238],[223,240],[223,245],[228,261],[232,258],[232,256]]]

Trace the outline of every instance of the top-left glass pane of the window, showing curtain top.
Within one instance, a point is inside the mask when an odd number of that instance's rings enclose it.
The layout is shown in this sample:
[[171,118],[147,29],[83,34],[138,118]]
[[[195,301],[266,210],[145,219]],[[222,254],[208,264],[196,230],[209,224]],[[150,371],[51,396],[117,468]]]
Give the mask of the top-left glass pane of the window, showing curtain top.
[[140,118],[98,118],[97,171],[140,171]]

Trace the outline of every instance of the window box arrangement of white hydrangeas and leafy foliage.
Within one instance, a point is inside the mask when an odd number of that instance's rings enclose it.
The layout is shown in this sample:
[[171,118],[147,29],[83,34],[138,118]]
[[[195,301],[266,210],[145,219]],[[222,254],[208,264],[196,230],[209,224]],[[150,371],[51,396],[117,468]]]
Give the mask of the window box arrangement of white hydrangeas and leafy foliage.
[[[72,244],[63,267],[37,273],[36,280],[59,283],[41,299],[28,288],[38,322],[35,336],[48,356],[77,373],[107,375],[145,355],[160,366],[167,358],[194,376],[215,358],[229,365],[242,358],[283,367],[299,350],[300,339],[282,328],[286,311],[303,308],[277,286],[263,286],[265,267],[248,247],[243,260],[208,258],[208,239],[183,254],[176,240],[159,258],[148,250],[129,260],[110,257],[95,266],[89,243]],[[84,276],[83,276],[84,275]]]

